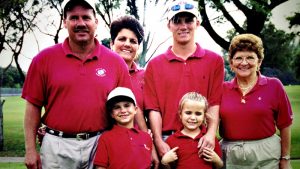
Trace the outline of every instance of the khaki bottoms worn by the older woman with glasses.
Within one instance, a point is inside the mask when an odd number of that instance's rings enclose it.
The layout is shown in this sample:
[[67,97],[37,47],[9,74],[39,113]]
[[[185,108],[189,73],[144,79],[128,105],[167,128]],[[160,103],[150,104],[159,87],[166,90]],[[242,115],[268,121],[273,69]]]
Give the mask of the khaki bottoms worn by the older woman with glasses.
[[223,169],[278,169],[281,156],[280,137],[254,141],[220,141]]

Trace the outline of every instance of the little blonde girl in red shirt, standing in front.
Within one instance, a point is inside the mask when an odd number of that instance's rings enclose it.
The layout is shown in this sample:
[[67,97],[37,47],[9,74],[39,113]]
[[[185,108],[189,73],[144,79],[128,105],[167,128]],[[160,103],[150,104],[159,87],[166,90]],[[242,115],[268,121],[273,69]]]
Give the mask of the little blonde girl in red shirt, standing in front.
[[221,148],[217,138],[215,150],[204,148],[198,155],[199,139],[206,133],[205,113],[208,103],[205,97],[196,92],[185,94],[179,103],[179,117],[183,129],[175,132],[166,140],[171,150],[164,154],[161,163],[165,168],[221,168]]

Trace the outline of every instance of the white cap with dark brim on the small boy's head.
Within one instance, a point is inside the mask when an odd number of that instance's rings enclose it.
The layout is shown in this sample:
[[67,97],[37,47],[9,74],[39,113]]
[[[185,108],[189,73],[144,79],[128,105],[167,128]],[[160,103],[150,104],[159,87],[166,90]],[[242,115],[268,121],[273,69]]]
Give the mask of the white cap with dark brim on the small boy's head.
[[107,96],[106,104],[110,104],[110,102],[117,100],[118,98],[127,98],[131,100],[134,103],[134,105],[136,105],[136,100],[133,92],[126,87],[116,87],[115,89],[113,89]]

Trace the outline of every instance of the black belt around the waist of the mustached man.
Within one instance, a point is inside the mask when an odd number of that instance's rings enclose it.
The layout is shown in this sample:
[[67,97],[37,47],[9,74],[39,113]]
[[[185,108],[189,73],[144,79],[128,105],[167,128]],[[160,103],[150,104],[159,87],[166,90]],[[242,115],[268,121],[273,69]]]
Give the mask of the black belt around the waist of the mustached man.
[[58,136],[62,138],[76,138],[77,140],[87,140],[101,133],[101,131],[95,131],[95,132],[86,132],[86,133],[78,133],[78,134],[68,134],[62,131],[51,129],[49,127],[46,127],[46,132],[54,136]]

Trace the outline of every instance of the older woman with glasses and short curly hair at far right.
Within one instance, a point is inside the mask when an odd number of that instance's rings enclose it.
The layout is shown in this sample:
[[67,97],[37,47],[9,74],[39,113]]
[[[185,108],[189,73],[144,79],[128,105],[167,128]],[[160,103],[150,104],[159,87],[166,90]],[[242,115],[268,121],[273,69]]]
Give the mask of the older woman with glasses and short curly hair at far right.
[[258,36],[241,34],[232,39],[229,64],[235,77],[224,83],[220,105],[226,168],[290,168],[293,113],[280,80],[260,73],[263,59]]

